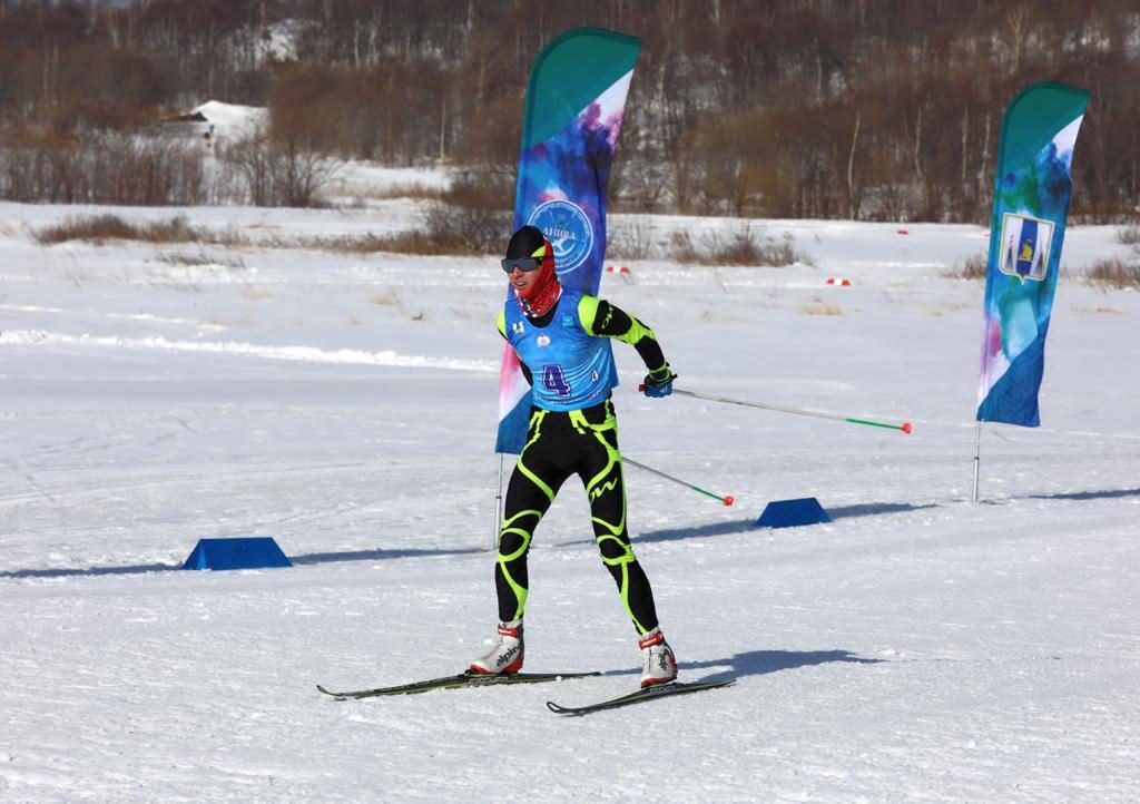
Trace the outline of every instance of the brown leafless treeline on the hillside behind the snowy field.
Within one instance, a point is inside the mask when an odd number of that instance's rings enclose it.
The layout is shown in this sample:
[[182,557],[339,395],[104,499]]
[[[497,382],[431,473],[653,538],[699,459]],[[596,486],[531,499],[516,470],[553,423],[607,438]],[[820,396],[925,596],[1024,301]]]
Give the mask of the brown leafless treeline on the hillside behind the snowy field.
[[616,211],[984,222],[1002,112],[1040,80],[1092,92],[1073,213],[1140,200],[1127,0],[0,0],[0,136],[268,106],[277,147],[464,167],[465,203],[508,206],[530,64],[579,25],[643,40]]

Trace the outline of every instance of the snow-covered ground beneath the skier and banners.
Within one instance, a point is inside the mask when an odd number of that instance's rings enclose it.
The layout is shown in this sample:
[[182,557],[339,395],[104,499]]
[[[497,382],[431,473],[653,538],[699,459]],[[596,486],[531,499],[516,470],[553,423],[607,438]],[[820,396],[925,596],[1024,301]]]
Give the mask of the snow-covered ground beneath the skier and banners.
[[[546,710],[638,669],[571,482],[532,550],[527,664],[601,677],[318,693],[459,671],[494,627],[495,260],[258,244],[414,211],[185,210],[252,245],[43,247],[84,210],[0,204],[0,799],[1135,799],[1140,298],[1062,279],[1044,427],[986,429],[972,505],[982,284],[943,275],[985,251],[971,226],[764,221],[811,265],[606,276],[678,387],[914,423],[646,400],[618,344],[624,452],[736,497],[626,472],[683,679],[735,687]],[[1115,234],[1072,228],[1064,265],[1125,253]],[[833,522],[752,527],[805,496]],[[295,566],[178,569],[253,535]]]

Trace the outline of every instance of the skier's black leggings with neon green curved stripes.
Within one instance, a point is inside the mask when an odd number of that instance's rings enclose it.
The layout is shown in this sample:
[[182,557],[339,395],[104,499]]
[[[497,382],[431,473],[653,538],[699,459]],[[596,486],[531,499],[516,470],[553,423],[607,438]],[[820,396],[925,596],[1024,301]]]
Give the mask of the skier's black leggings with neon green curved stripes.
[[571,474],[581,478],[597,541],[637,633],[657,627],[653,592],[626,531],[618,423],[609,400],[568,413],[534,408],[527,446],[511,474],[495,566],[499,619],[522,617],[527,604],[527,552],[543,514]]

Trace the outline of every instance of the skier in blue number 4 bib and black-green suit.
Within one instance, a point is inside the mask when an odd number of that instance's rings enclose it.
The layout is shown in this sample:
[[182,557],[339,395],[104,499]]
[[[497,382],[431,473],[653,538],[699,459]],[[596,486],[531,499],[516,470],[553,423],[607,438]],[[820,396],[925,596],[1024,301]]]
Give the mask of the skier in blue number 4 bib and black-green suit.
[[677,663],[626,530],[621,454],[610,400],[617,371],[605,339],[617,338],[637,350],[649,369],[645,396],[669,396],[676,375],[652,330],[603,299],[562,287],[551,242],[536,227],[514,233],[502,265],[514,293],[499,312],[498,330],[519,355],[534,407],[527,445],[507,485],[499,531],[498,640],[494,650],[471,663],[471,671],[499,674],[522,668],[527,552],[562,482],[578,474],[589,498],[602,561],[638,634],[641,684],[674,681]]

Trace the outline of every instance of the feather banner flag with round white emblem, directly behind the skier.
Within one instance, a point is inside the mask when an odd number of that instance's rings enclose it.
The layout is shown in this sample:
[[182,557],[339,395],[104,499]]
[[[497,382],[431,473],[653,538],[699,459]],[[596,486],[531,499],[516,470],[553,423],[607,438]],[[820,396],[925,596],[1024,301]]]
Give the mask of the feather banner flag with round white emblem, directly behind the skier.
[[[527,84],[514,228],[542,229],[562,286],[592,295],[602,281],[610,168],[640,52],[634,36],[575,29],[538,54]],[[530,387],[506,344],[495,452],[522,452],[529,414]]]

